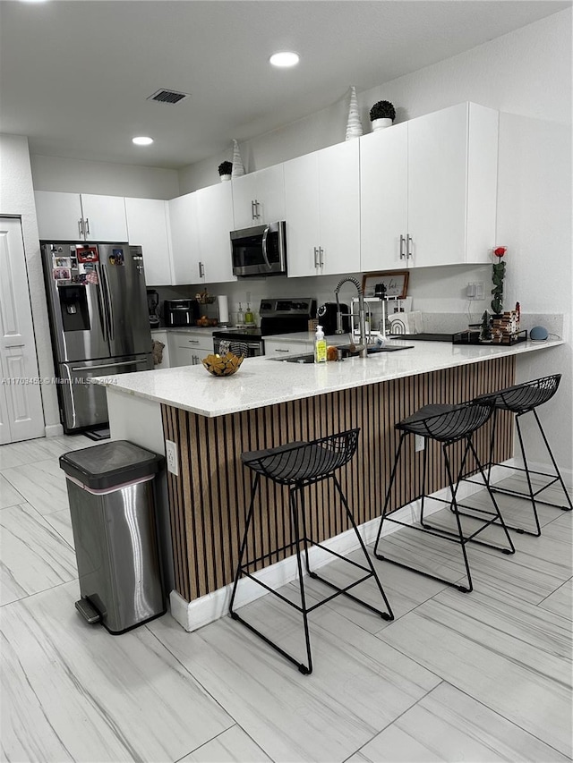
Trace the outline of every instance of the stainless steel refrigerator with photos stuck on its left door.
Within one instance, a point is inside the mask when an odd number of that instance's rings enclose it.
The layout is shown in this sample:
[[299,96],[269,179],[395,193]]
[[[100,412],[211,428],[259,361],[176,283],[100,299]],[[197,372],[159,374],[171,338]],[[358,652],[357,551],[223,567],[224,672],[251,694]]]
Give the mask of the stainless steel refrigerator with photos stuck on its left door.
[[141,247],[40,242],[64,431],[107,424],[90,382],[153,368]]

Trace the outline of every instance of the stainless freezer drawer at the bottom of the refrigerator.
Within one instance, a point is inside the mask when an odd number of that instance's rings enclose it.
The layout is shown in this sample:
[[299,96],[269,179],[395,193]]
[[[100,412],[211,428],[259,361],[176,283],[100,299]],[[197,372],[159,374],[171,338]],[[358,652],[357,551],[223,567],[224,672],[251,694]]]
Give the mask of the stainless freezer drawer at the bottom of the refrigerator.
[[153,369],[151,353],[109,360],[78,360],[60,363],[58,399],[67,433],[107,424],[106,387],[93,384],[93,377],[112,377]]

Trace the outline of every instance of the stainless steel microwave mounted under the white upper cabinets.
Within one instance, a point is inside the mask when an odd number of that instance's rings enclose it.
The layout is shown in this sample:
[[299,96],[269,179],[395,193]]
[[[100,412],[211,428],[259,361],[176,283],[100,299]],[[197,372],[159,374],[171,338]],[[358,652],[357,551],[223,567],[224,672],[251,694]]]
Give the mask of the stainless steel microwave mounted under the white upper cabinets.
[[231,232],[234,276],[286,276],[286,223]]

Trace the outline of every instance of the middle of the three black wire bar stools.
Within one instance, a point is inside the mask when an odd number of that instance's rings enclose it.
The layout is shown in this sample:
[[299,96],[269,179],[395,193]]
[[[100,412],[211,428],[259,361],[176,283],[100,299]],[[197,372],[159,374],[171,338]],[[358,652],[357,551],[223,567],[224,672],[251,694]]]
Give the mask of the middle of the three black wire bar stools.
[[[397,564],[398,567],[404,567],[406,570],[419,572],[420,574],[424,575],[427,578],[432,578],[432,580],[440,581],[442,583],[447,583],[448,585],[451,585],[454,588],[457,588],[458,590],[463,591],[464,593],[468,593],[469,591],[474,589],[474,585],[473,585],[472,576],[469,570],[469,562],[468,562],[467,553],[466,553],[466,543],[468,543],[469,541],[472,541],[481,546],[495,548],[498,551],[502,551],[504,554],[515,553],[515,547],[513,546],[511,538],[509,538],[509,532],[505,526],[503,518],[501,517],[500,510],[498,508],[498,505],[495,502],[495,497],[493,496],[492,490],[489,487],[489,483],[485,479],[485,476],[483,473],[483,466],[479,460],[477,453],[475,452],[475,446],[472,440],[474,432],[480,427],[482,427],[483,424],[485,424],[485,422],[489,420],[491,416],[492,416],[491,405],[487,403],[475,403],[475,401],[471,401],[469,403],[462,403],[461,405],[448,405],[448,404],[424,405],[423,408],[421,408],[419,411],[416,411],[412,416],[408,416],[406,419],[399,421],[398,424],[395,425],[395,428],[398,429],[400,432],[400,439],[398,442],[398,450],[396,453],[396,459],[394,461],[394,465],[392,467],[392,471],[390,474],[388,491],[386,493],[386,500],[384,502],[384,510],[381,516],[380,528],[378,530],[378,535],[376,537],[376,543],[374,544],[374,555],[378,559],[383,559],[387,562],[390,562],[391,564]],[[402,451],[402,445],[404,445],[404,441],[408,435],[419,435],[420,437],[423,437],[425,441],[424,450],[423,450],[422,493],[421,495],[416,496],[416,498],[411,499],[413,501],[421,500],[419,526],[408,524],[407,522],[400,521],[392,516],[392,514],[397,512],[400,508],[402,508],[402,506],[398,506],[397,508],[392,509],[391,512],[388,511],[390,496],[392,492],[392,486],[393,486],[394,480],[396,479],[396,472],[398,469],[398,462],[400,459],[400,453]],[[444,463],[445,463],[446,472],[448,475],[449,489],[451,492],[450,500],[446,500],[444,498],[436,498],[435,496],[432,496],[432,500],[440,501],[443,504],[449,504],[451,511],[454,513],[456,517],[457,531],[446,530],[440,527],[435,527],[432,524],[430,524],[427,520],[424,519],[425,499],[427,497],[430,497],[430,496],[426,496],[426,493],[425,493],[426,477],[427,477],[427,462],[428,462],[428,442],[427,442],[428,440],[436,440],[441,443],[442,452],[444,456]],[[464,448],[464,453],[462,456],[460,468],[458,471],[458,477],[454,483],[452,468],[451,468],[451,461],[449,458],[449,447],[460,441],[465,441],[466,445]],[[463,504],[458,504],[457,493],[458,493],[459,483],[461,479],[463,479],[462,475],[466,467],[467,455],[470,453],[473,454],[477,469],[480,471],[480,473],[483,476],[485,488],[487,492],[489,493],[490,498],[492,499],[494,512],[492,513],[492,519],[483,520],[483,524],[477,530],[474,530],[469,535],[464,535],[464,532],[462,529],[462,523],[460,520],[461,512],[459,511],[459,508],[460,507],[464,508],[464,506]],[[467,586],[460,585],[454,581],[447,581],[444,578],[440,578],[438,575],[432,575],[430,572],[423,572],[422,570],[419,570],[416,567],[410,566],[409,564],[404,564],[402,562],[398,562],[397,560],[389,559],[385,555],[381,555],[378,551],[378,547],[381,540],[382,528],[384,526],[384,522],[386,521],[395,522],[396,524],[402,525],[404,527],[408,527],[412,530],[418,530],[421,532],[429,533],[438,538],[443,538],[453,543],[458,543],[458,545],[462,549],[464,564],[466,566]],[[505,537],[507,538],[507,541],[508,541],[508,547],[494,546],[492,543],[487,543],[483,540],[477,540],[475,538],[480,532],[485,530],[485,528],[490,527],[490,525],[496,522],[499,522],[501,528],[503,529],[505,533]]]

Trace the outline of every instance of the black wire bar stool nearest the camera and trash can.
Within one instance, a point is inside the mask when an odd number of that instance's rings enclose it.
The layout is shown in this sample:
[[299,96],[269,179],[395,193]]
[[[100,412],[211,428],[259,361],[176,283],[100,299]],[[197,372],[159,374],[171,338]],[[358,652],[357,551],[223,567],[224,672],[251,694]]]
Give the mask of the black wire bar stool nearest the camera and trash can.
[[[319,439],[312,440],[312,442],[296,442],[289,445],[281,445],[277,448],[270,448],[269,450],[251,451],[244,453],[241,456],[244,466],[254,472],[254,479],[252,481],[251,504],[249,505],[247,520],[244,527],[244,537],[241,544],[241,550],[239,552],[239,561],[236,568],[235,583],[233,585],[233,593],[231,595],[231,602],[229,604],[229,614],[235,620],[238,620],[240,623],[246,625],[246,627],[253,633],[256,633],[257,636],[260,636],[262,640],[269,644],[269,646],[271,646],[273,649],[276,649],[281,655],[283,655],[283,657],[286,657],[286,659],[294,663],[295,666],[297,666],[300,672],[303,674],[312,673],[311,640],[308,628],[308,614],[312,612],[313,609],[326,604],[332,598],[335,598],[340,594],[344,594],[344,596],[353,599],[353,601],[356,601],[359,604],[362,604],[377,615],[381,615],[382,619],[394,619],[394,615],[390,609],[388,599],[386,598],[386,594],[382,589],[381,581],[379,580],[378,575],[374,570],[372,559],[366,551],[363,539],[361,538],[360,533],[356,527],[353,514],[348,507],[346,496],[344,495],[342,488],[340,487],[340,483],[338,482],[338,478],[335,474],[336,471],[341,469],[354,456],[356,447],[358,445],[359,431],[360,429],[350,429],[347,432],[341,432],[337,435],[330,435],[329,437],[321,437]],[[269,554],[264,554],[256,559],[251,559],[244,562],[243,560],[247,538],[252,524],[255,497],[261,477],[266,477],[273,480],[274,482],[278,482],[279,485],[288,486],[291,528],[293,531],[292,537],[294,540],[292,543],[288,543],[283,547],[274,549]],[[350,559],[346,559],[344,556],[337,554],[336,551],[332,551],[329,548],[321,545],[321,543],[317,543],[316,541],[312,540],[312,538],[308,538],[304,506],[304,487],[313,485],[314,483],[320,482],[323,479],[333,480],[340,496],[340,500],[345,507],[346,516],[348,517],[348,520],[355,530],[356,537],[358,538],[360,547],[363,550],[363,555],[365,556],[368,564],[367,567],[364,567],[362,564],[357,564]],[[299,514],[301,521],[299,521]],[[345,588],[339,588],[334,583],[331,583],[330,581],[322,578],[321,575],[311,571],[308,554],[309,545],[321,547],[324,551],[328,551],[329,554],[338,556],[339,559],[343,559],[346,563],[352,564],[354,567],[357,567],[359,570],[362,570],[366,574],[362,575],[359,580],[350,583]],[[271,554],[275,554],[278,551],[284,551],[287,548],[293,547],[295,547],[296,550],[296,561],[298,564],[301,606],[295,604],[292,601],[289,601],[282,594],[278,593],[278,591],[270,589],[269,586],[265,585],[265,583],[258,580],[252,575],[251,572],[249,572],[249,567],[252,566],[252,564],[261,562],[263,559],[269,558]],[[303,550],[304,564],[308,574],[312,578],[326,583],[331,589],[336,591],[331,596],[324,598],[322,601],[318,602],[318,604],[314,604],[312,606],[307,605],[304,594],[304,576],[302,564]],[[271,641],[267,636],[254,628],[250,623],[247,623],[243,617],[237,615],[237,613],[234,611],[233,604],[235,602],[237,585],[243,575],[251,578],[252,581],[258,582],[263,588],[269,590],[269,592],[275,594],[275,596],[278,596],[278,598],[282,599],[287,605],[295,607],[296,610],[302,613],[304,621],[304,638],[306,640],[307,665],[304,665],[304,663],[301,663],[299,660],[295,659],[295,657],[292,657],[284,649],[281,649],[278,644],[274,643],[274,641]],[[359,583],[367,580],[368,578],[374,578],[376,581],[376,585],[381,592],[381,597],[384,600],[384,605],[387,609],[386,612],[382,612],[380,609],[376,609],[370,604],[367,604],[362,599],[355,597],[351,593],[348,593],[349,589],[354,588]]]

